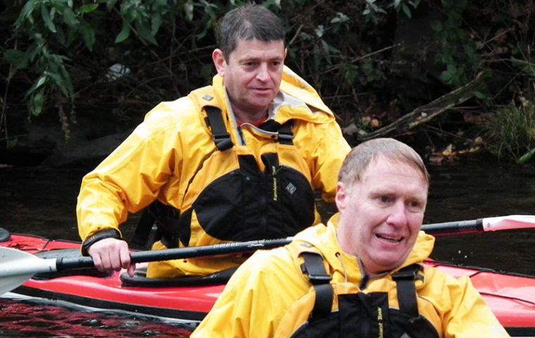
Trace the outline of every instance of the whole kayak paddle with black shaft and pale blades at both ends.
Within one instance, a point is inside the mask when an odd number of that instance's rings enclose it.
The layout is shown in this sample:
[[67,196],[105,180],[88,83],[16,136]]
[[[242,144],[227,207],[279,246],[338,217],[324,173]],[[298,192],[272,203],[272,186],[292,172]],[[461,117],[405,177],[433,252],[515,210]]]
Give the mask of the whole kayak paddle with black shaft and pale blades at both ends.
[[[526,229],[535,227],[535,215],[510,215],[477,220],[434,223],[422,225],[429,234],[459,234],[499,230]],[[214,256],[226,253],[251,252],[258,249],[272,249],[289,244],[292,237],[282,239],[263,239],[249,242],[193,246],[187,248],[155,251],[137,251],[130,254],[132,263],[169,261],[201,256]],[[53,273],[67,269],[94,268],[91,257],[39,258],[24,251],[0,246],[0,294],[20,286],[36,273]]]

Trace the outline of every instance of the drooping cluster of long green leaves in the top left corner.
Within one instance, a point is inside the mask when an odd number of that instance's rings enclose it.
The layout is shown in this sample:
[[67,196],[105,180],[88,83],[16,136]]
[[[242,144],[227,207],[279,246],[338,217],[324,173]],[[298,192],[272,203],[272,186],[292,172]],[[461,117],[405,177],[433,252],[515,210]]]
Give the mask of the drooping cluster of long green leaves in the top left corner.
[[[39,115],[44,110],[46,96],[60,92],[70,102],[75,99],[73,84],[66,68],[69,58],[57,54],[51,40],[65,49],[82,39],[87,49],[95,42],[94,30],[83,15],[96,9],[96,4],[73,8],[72,1],[30,0],[20,11],[14,23],[16,37],[27,37],[25,50],[8,49],[4,58],[13,65],[13,71],[29,70],[37,75],[26,97],[30,114]],[[14,72],[9,76],[12,77]]]

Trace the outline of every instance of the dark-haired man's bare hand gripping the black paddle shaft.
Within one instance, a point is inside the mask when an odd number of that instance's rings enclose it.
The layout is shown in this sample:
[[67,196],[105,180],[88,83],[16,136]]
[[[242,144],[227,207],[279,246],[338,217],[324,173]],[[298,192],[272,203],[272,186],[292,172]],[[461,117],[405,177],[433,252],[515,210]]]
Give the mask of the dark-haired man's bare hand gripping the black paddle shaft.
[[101,272],[113,273],[124,268],[128,269],[130,277],[134,275],[136,265],[130,263],[130,250],[127,242],[122,239],[101,239],[89,246],[87,253],[93,258],[95,268]]

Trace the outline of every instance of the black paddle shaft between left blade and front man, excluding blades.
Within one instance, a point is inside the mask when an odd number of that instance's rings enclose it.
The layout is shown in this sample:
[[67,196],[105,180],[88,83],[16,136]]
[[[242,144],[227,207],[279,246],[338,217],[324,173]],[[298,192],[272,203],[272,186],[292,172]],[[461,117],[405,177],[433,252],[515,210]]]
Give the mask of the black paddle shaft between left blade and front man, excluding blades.
[[[289,244],[291,239],[292,237],[287,237],[282,239],[263,239],[258,241],[215,244],[211,246],[191,246],[177,249],[139,251],[131,253],[130,260],[132,263],[141,263],[251,252],[260,249],[273,249],[278,246],[284,246]],[[56,258],[56,268],[58,271],[93,267],[94,263],[91,257]]]

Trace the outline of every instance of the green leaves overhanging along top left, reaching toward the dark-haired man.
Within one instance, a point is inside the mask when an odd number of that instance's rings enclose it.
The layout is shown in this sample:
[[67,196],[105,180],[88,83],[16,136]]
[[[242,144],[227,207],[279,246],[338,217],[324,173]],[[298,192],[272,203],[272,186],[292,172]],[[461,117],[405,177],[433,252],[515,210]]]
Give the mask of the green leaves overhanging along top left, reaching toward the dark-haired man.
[[[80,56],[95,54],[94,48],[99,43],[110,45],[109,50],[115,57],[138,42],[157,46],[158,33],[163,26],[166,30],[174,29],[177,16],[190,23],[198,19],[196,24],[202,27],[195,38],[198,41],[213,27],[211,23],[220,14],[215,11],[218,6],[208,1],[80,2],[29,0],[13,23],[14,44],[13,48],[5,49],[4,61],[12,65],[8,80],[20,72],[33,79],[25,94],[30,115],[44,113],[49,99],[56,100],[58,96],[74,106],[77,94],[70,67],[80,62]],[[196,18],[199,13],[204,15],[200,20]],[[108,25],[114,20],[122,24],[111,42]],[[123,47],[115,48],[113,44]],[[73,57],[78,59],[73,61]]]

